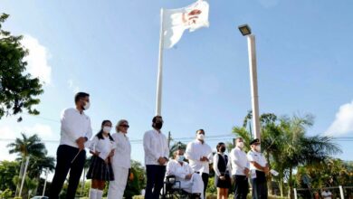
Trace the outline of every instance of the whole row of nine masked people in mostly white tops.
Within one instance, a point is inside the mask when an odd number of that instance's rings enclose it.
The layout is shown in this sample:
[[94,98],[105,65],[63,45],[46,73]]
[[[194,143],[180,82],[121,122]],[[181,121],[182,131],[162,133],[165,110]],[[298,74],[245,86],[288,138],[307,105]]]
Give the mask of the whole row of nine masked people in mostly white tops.
[[[85,148],[89,148],[91,166],[87,178],[91,179],[90,198],[100,199],[106,182],[109,182],[108,198],[121,199],[127,185],[130,171],[131,146],[127,137],[129,122],[120,119],[115,133],[110,135],[113,124],[110,120],[101,123],[100,131],[92,137],[91,119],[84,113],[90,108],[90,95],[79,92],[75,95],[75,108],[65,109],[61,118],[61,140],[57,149],[57,164],[52,178],[50,198],[57,199],[62,185],[70,171],[66,198],[73,199],[79,185],[86,160]],[[253,198],[267,198],[265,173],[269,171],[261,154],[260,142],[254,139],[248,155],[243,152],[243,139],[236,138],[236,147],[230,156],[224,154],[224,143],[218,143],[217,153],[205,143],[205,130],[196,131],[196,139],[187,144],[186,150],[178,148],[174,158],[169,159],[167,137],[162,133],[163,118],[152,119],[152,130],[143,137],[145,165],[147,172],[146,199],[159,198],[164,180],[174,175],[180,187],[193,198],[205,198],[210,164],[215,170],[217,198],[227,198],[231,187],[231,175],[235,182],[234,198],[246,198],[248,177],[253,185]],[[188,160],[188,162],[186,161]]]

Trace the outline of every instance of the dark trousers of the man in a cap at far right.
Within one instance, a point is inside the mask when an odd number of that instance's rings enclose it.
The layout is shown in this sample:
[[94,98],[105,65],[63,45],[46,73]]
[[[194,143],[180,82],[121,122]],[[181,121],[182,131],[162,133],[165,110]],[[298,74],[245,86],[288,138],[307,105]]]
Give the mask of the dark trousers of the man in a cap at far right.
[[253,199],[267,199],[266,175],[256,170],[256,177],[252,179]]

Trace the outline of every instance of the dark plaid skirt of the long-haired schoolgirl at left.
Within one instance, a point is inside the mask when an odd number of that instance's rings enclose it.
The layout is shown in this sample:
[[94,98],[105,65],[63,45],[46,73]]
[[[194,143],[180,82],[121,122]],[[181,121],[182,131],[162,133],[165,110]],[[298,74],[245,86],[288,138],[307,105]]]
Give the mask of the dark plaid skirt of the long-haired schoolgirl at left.
[[112,181],[114,173],[110,163],[105,163],[99,156],[92,156],[91,166],[87,172],[87,179]]

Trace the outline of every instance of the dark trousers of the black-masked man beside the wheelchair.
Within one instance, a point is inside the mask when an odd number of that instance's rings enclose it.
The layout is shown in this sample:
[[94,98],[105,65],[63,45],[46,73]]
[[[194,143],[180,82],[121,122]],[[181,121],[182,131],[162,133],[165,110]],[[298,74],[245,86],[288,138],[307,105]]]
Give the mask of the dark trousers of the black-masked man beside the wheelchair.
[[160,190],[163,187],[163,180],[166,175],[166,166],[148,165],[146,166],[146,173],[148,179],[145,198],[158,199]]

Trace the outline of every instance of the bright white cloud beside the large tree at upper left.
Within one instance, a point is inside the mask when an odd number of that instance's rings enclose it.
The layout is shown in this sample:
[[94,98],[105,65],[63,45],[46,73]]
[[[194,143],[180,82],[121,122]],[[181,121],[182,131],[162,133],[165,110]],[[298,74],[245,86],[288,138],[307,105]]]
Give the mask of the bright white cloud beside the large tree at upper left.
[[29,55],[24,58],[24,61],[28,62],[27,71],[33,77],[50,84],[52,67],[48,65],[50,58],[48,50],[36,38],[28,34],[24,35],[21,43],[29,51]]

